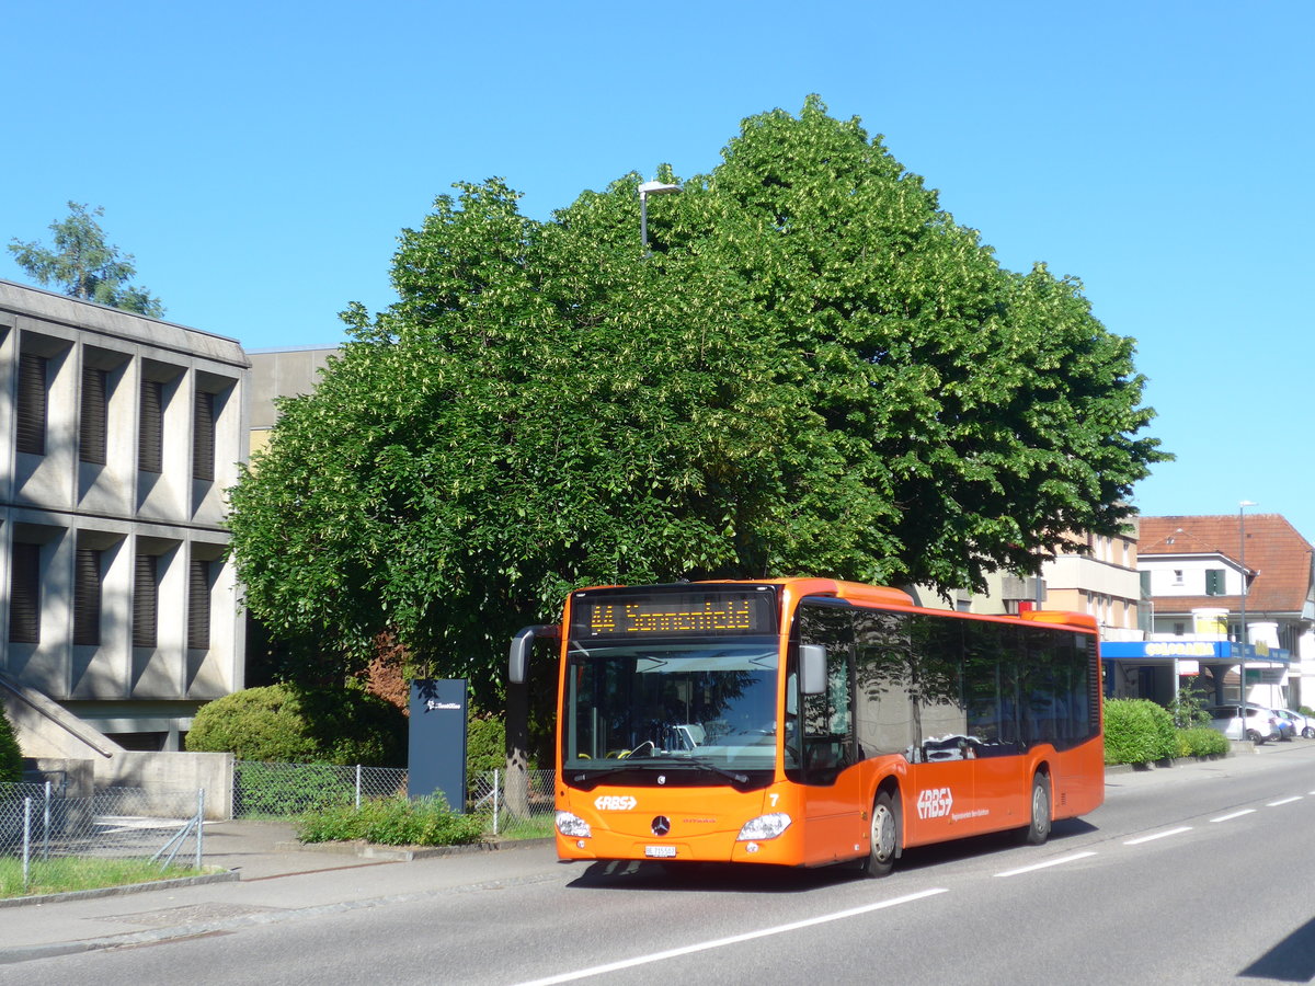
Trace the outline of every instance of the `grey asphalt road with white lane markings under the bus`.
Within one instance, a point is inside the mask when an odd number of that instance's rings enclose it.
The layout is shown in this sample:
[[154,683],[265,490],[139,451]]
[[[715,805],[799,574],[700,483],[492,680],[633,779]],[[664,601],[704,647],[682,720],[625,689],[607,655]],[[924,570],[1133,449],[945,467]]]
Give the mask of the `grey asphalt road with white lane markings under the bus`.
[[522,851],[496,881],[21,962],[0,982],[1311,982],[1312,831],[1315,741],[1297,741],[1114,774],[1106,805],[1044,847],[910,851],[880,881]]

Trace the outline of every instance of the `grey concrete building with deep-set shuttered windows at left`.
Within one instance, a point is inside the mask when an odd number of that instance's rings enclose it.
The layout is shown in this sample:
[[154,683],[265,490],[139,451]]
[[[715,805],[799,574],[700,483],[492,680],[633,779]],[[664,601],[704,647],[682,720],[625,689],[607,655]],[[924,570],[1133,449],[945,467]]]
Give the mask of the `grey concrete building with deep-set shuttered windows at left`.
[[53,699],[92,745],[178,749],[203,702],[243,686],[224,490],[247,379],[233,339],[0,281],[7,705]]

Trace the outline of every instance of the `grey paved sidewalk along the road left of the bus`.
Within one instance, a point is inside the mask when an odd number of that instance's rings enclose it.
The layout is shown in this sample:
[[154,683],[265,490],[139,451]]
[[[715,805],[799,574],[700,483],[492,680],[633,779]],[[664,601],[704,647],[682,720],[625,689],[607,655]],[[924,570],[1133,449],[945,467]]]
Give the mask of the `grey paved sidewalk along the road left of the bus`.
[[560,878],[551,840],[498,847],[371,858],[346,847],[297,848],[292,826],[279,822],[209,823],[204,861],[226,870],[220,882],[110,887],[3,906],[0,965]]

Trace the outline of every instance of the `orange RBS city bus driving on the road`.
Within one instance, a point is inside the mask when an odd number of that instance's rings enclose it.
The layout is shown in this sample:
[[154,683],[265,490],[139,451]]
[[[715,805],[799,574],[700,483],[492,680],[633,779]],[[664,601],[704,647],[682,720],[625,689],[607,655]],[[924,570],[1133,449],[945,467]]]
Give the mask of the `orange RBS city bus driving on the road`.
[[571,593],[560,636],[564,860],[885,876],[909,847],[1101,805],[1095,621],[980,617],[826,578]]

